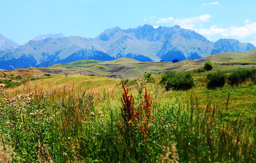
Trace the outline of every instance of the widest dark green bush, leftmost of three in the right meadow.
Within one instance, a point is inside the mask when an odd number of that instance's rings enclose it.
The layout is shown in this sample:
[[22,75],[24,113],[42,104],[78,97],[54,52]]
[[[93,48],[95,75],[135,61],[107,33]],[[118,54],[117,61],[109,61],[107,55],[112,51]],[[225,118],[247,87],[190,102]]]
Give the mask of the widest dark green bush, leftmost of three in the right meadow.
[[167,72],[161,77],[161,84],[165,85],[166,90],[187,90],[194,86],[194,80],[190,72]]

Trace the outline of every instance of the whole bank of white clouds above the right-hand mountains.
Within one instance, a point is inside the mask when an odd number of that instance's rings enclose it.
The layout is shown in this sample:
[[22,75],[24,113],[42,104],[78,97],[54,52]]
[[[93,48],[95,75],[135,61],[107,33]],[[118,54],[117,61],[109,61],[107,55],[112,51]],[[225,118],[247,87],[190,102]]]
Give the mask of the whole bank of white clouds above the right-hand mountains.
[[[151,16],[146,21],[151,21],[151,23],[158,23],[158,24],[171,24],[171,25],[180,25],[181,28],[184,29],[191,29],[195,30],[197,33],[206,36],[208,39],[211,39],[211,36],[219,37],[219,35],[226,37],[226,38],[246,38],[251,37],[253,40],[251,43],[256,45],[256,22],[252,22],[249,19],[244,21],[245,24],[241,26],[231,26],[223,28],[223,24],[213,24],[210,28],[204,28],[204,23],[209,22],[211,19],[210,14],[203,14],[200,16],[195,16],[191,18],[156,18],[156,16]],[[154,28],[158,28],[158,26],[154,26]]]

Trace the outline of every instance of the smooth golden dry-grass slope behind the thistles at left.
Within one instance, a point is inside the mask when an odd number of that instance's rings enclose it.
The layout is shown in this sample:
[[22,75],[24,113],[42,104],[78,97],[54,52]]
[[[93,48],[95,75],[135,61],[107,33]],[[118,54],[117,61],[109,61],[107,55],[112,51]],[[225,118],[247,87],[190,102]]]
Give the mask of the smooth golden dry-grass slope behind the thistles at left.
[[44,92],[69,92],[87,89],[100,94],[105,91],[112,91],[120,84],[120,79],[89,76],[89,75],[58,75],[55,77],[43,78],[35,81],[28,81],[17,88],[9,88],[10,95],[23,94],[30,91]]

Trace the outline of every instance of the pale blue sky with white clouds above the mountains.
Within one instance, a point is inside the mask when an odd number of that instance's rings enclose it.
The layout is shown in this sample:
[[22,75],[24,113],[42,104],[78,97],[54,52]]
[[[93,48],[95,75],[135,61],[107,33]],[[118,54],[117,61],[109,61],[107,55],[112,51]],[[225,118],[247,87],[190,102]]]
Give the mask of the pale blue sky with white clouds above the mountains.
[[256,46],[255,8],[256,0],[0,0],[0,33],[21,45],[39,34],[94,38],[116,26],[178,24]]

